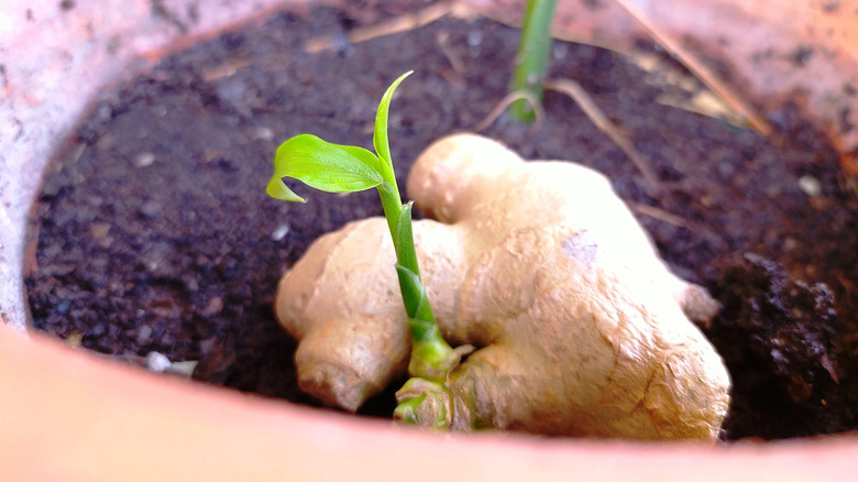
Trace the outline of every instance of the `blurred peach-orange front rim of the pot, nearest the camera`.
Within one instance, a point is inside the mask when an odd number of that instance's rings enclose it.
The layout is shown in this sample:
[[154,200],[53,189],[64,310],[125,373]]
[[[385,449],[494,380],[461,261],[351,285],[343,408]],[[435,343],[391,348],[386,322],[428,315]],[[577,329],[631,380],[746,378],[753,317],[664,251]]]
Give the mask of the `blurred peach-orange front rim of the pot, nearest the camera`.
[[854,435],[712,447],[429,432],[150,374],[8,327],[0,386],[10,480],[809,481],[848,480],[858,457]]

